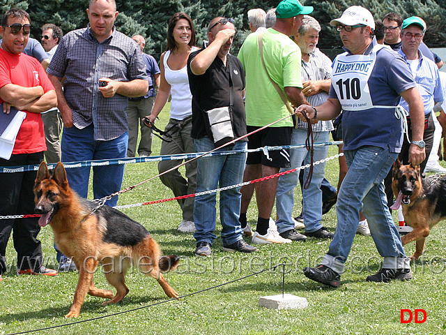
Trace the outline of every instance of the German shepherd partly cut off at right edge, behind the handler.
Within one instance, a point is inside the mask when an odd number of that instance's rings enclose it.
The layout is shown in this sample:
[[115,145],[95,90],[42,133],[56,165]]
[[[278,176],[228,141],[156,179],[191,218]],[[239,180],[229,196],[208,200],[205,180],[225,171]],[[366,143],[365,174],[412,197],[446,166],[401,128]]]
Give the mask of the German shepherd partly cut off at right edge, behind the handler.
[[392,190],[397,198],[391,209],[403,207],[406,223],[412,232],[401,237],[403,246],[417,241],[411,260],[417,260],[424,252],[429,230],[446,218],[446,176],[422,178],[420,165],[401,165],[397,160],[393,168]]

